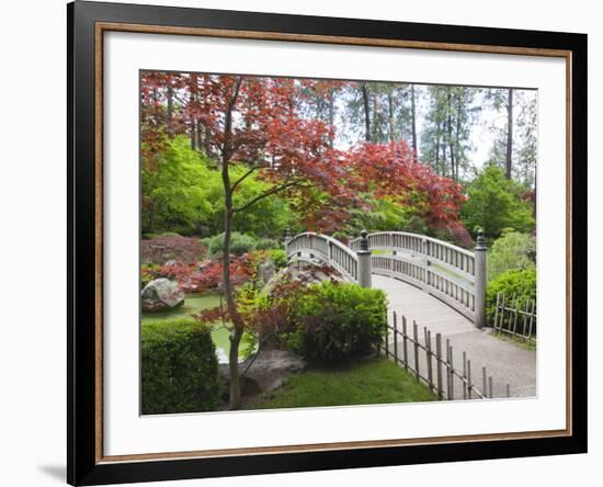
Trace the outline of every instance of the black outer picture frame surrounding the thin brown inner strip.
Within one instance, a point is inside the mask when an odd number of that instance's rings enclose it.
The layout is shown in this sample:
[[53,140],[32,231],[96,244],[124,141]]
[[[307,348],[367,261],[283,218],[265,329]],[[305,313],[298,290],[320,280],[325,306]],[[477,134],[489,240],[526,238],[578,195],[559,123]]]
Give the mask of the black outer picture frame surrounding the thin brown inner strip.
[[[305,472],[473,461],[587,452],[587,35],[435,25],[374,20],[235,12],[204,9],[76,1],[67,5],[68,24],[68,420],[67,480],[99,485],[197,477]],[[99,456],[96,394],[102,351],[95,324],[99,313],[98,204],[99,151],[95,118],[95,42],[99,22],[204,27],[258,33],[403,39],[451,45],[561,49],[571,58],[571,181],[568,218],[571,226],[568,295],[571,308],[571,433],[547,438],[479,442],[366,446],[349,450],[298,451],[104,462]],[[577,128],[579,126],[579,128]],[[102,342],[101,342],[102,343]]]

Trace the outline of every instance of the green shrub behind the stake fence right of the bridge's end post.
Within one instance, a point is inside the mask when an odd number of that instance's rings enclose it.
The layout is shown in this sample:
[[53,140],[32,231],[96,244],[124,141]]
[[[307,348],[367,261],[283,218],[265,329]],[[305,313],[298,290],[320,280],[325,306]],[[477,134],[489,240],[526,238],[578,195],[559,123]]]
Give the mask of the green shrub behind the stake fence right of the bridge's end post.
[[526,302],[536,299],[536,268],[507,271],[488,283],[486,293],[486,315],[489,325],[493,325],[497,307],[497,293],[513,299],[520,309],[525,309]]

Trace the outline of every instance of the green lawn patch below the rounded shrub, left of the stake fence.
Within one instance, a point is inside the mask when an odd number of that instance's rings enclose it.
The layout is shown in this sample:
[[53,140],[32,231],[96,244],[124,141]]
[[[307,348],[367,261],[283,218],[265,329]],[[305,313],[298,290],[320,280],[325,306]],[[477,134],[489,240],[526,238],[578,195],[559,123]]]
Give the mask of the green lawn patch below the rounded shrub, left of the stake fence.
[[437,397],[385,358],[292,374],[278,389],[265,393],[246,409],[273,409],[363,404],[418,403]]

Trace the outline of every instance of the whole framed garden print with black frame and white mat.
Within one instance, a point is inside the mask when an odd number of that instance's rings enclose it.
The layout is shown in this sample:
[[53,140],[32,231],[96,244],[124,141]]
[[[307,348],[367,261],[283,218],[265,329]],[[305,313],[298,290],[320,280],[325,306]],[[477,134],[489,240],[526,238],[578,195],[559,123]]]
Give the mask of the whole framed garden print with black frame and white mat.
[[587,451],[587,36],[70,3],[68,482]]

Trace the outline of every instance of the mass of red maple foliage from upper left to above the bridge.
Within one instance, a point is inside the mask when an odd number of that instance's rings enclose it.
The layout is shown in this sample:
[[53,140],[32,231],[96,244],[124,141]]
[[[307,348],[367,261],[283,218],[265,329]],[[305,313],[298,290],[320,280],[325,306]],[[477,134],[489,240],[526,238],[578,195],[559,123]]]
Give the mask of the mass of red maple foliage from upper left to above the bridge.
[[[190,133],[218,166],[243,162],[249,174],[272,183],[261,196],[286,195],[312,230],[340,229],[350,208],[366,207],[366,193],[412,205],[433,228],[462,226],[462,186],[419,163],[406,141],[338,150],[330,144],[334,127],[302,113],[308,97],[328,97],[345,84],[146,72],[141,77],[144,159],[152,165],[171,134]],[[235,189],[239,183],[232,182]]]

